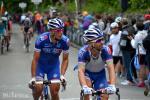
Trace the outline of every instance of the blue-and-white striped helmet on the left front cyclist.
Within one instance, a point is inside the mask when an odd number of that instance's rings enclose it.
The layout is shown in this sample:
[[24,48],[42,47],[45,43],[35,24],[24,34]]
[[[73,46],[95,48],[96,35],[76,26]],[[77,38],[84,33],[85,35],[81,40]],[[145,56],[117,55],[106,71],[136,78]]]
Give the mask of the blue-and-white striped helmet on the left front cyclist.
[[64,28],[64,23],[59,18],[53,18],[48,21],[47,27],[48,29],[62,29]]

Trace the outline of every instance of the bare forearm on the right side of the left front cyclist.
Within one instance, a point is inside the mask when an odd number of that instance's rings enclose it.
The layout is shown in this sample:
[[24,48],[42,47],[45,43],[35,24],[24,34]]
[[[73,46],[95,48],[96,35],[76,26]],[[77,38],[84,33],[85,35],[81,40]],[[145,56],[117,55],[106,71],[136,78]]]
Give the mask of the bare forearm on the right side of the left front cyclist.
[[65,75],[69,63],[69,53],[63,53],[61,64],[61,75]]

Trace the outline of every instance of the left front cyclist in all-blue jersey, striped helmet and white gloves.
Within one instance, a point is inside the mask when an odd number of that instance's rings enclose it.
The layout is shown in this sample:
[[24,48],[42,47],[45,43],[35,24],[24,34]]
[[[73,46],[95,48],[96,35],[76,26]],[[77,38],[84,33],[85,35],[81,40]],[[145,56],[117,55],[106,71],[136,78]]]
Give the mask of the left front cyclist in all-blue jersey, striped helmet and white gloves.
[[[50,19],[48,24],[49,32],[38,36],[35,42],[35,51],[31,65],[32,79],[29,84],[35,81],[43,81],[44,74],[49,81],[65,80],[65,73],[68,67],[69,39],[63,35],[64,23],[59,18]],[[62,63],[60,66],[59,56],[62,52]],[[59,100],[60,83],[52,83],[50,86],[52,100]],[[36,84],[33,92],[34,100],[38,100],[43,85]]]

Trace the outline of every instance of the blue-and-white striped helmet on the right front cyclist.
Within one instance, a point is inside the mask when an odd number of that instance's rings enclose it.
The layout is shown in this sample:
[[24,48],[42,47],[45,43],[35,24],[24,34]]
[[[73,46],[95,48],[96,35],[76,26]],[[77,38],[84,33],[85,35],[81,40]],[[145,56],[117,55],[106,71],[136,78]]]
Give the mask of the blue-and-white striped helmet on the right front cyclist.
[[104,37],[103,32],[99,28],[90,28],[83,34],[84,41],[94,42],[94,40],[102,39]]

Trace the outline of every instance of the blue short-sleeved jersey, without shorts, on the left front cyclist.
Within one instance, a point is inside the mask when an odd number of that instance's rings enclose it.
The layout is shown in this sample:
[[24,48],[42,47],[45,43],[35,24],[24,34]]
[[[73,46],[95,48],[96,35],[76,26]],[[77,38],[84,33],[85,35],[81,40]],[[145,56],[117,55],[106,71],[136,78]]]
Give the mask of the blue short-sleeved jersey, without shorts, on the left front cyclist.
[[69,39],[62,35],[62,38],[54,44],[51,41],[50,33],[45,32],[37,37],[35,42],[35,51],[40,52],[40,58],[38,61],[38,67],[58,67],[59,56],[61,52],[69,53]]

